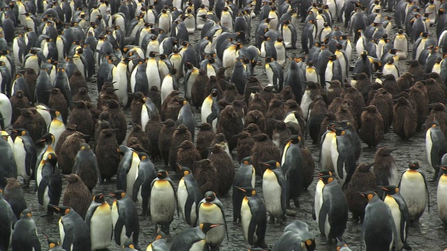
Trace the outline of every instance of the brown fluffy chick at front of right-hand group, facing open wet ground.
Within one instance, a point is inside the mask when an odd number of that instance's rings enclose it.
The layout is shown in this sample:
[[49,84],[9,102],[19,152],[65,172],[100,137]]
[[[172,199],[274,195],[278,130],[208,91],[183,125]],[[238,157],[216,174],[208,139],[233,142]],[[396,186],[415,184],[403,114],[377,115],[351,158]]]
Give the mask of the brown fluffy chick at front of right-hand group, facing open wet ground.
[[409,139],[416,133],[416,112],[411,103],[404,97],[397,99],[393,108],[393,131],[401,139]]

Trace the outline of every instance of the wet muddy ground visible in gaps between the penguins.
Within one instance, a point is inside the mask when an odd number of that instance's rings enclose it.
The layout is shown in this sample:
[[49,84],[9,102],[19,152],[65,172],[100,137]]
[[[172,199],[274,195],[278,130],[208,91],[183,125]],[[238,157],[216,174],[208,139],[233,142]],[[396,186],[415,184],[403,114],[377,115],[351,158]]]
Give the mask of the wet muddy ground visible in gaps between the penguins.
[[[252,33],[254,33],[257,22],[258,17],[255,18],[254,22],[252,22],[252,26],[254,27],[252,29]],[[302,24],[298,24],[297,27],[298,30],[302,29]],[[300,33],[301,32],[299,31],[298,49],[288,51],[289,57],[302,55],[302,53],[300,53],[300,40],[299,40]],[[395,33],[395,30],[393,30],[391,33]],[[195,43],[197,40],[199,40],[197,34],[198,32],[196,31],[196,34],[190,37],[192,43]],[[252,41],[254,41],[254,39]],[[355,55],[354,44],[353,44],[353,55]],[[351,58],[351,64],[353,63],[354,59],[355,56]],[[284,73],[286,73],[286,70],[287,67],[284,68]],[[404,72],[404,63],[400,63],[400,70],[401,72]],[[255,73],[258,79],[260,79],[261,83],[266,84],[267,79],[265,77],[264,70],[260,66],[256,67]],[[90,82],[89,88],[91,98],[93,100],[96,100],[97,96],[96,82]],[[130,120],[130,109],[126,108],[124,109],[124,112],[126,113],[127,119]],[[196,117],[200,119],[200,114],[196,114]],[[316,163],[316,167],[318,167],[318,147],[312,145],[312,142],[309,140],[306,140],[306,144],[309,150],[312,152],[312,155]],[[367,146],[365,144],[363,144],[362,146],[363,146],[362,155],[360,157],[359,163],[372,162],[375,150],[367,149]],[[418,132],[418,134],[416,134],[414,137],[411,137],[411,139],[409,139],[408,141],[402,141],[399,137],[397,137],[397,135],[394,135],[391,130],[391,132],[388,132],[385,135],[383,142],[379,144],[379,147],[381,146],[390,146],[398,149],[397,151],[393,152],[393,156],[395,157],[400,173],[402,173],[404,169],[406,169],[409,162],[411,162],[412,160],[418,160],[421,163],[421,171],[425,173],[425,175],[429,180],[431,179],[432,171],[427,164],[427,157],[425,153],[425,132]],[[233,159],[237,159],[235,153],[233,153]],[[156,165],[156,168],[162,167],[161,162],[155,162],[154,164]],[[238,167],[238,163],[234,163],[234,165],[235,168]],[[177,185],[179,178],[177,176],[171,176],[171,178],[173,178],[173,180]],[[321,244],[325,242],[325,239],[321,237],[316,222],[312,220],[312,202],[314,200],[315,184],[316,181],[314,181],[314,183],[312,183],[312,185],[309,187],[309,192],[303,193],[302,196],[300,197],[301,201],[300,208],[293,208],[293,211],[295,211],[296,213],[295,216],[288,216],[286,222],[284,222],[283,224],[279,223],[268,224],[265,240],[270,248],[273,247],[274,243],[277,241],[279,236],[281,236],[284,227],[288,223],[290,223],[293,220],[302,220],[304,222],[307,222],[307,224],[309,224],[310,231],[312,231],[312,233],[316,235],[316,243],[317,243],[316,250],[335,250],[335,244],[332,245]],[[259,180],[259,178],[256,181],[256,188],[262,194],[261,181]],[[426,210],[422,218],[420,218],[420,225],[416,225],[410,228],[408,242],[409,245],[411,245],[411,247],[413,248],[413,250],[444,250],[445,248],[447,248],[447,232],[446,227],[442,225],[437,215],[437,204],[436,204],[437,183],[429,182],[428,188],[430,190],[430,206],[431,206],[430,213],[428,212],[428,210]],[[94,194],[96,194],[97,192],[108,192],[112,190],[116,190],[115,182],[106,183],[103,185],[97,185],[96,188],[94,188]],[[37,204],[37,199],[34,190],[31,188],[27,188],[24,190],[24,193],[28,204],[35,205],[33,207],[33,213],[34,213],[34,220],[36,221],[38,228],[38,236],[41,239],[43,250],[47,250],[47,244],[42,231],[45,231],[47,234],[50,234],[51,236],[58,237],[59,236],[59,227],[57,224],[58,217],[56,215],[46,218],[39,217],[38,215],[43,214],[44,211],[42,208],[39,208]],[[112,202],[112,198],[108,197],[106,199],[108,200],[109,203]],[[226,239],[223,241],[221,245],[221,250],[247,250],[247,248],[250,247],[244,241],[241,225],[233,223],[231,195],[227,195],[226,197],[221,197],[219,199],[221,199],[224,206],[224,212],[228,223],[228,236],[229,236],[229,240]],[[140,212],[140,206],[138,206],[138,211]],[[173,237],[177,233],[179,233],[179,231],[182,231],[187,227],[188,226],[186,225],[186,223],[183,222],[182,218],[181,217],[178,218],[176,215],[175,220],[171,224],[171,231],[170,236],[168,236],[168,243],[172,242]],[[361,231],[361,225],[354,225],[350,215],[350,220],[348,222],[344,234],[344,239],[346,243],[349,244],[352,250],[360,250],[360,231]],[[142,250],[145,250],[147,245],[152,241],[154,241],[154,225],[148,218],[140,217],[139,244]],[[109,250],[122,250],[122,248],[119,248],[114,242],[112,242],[112,245],[110,245]]]

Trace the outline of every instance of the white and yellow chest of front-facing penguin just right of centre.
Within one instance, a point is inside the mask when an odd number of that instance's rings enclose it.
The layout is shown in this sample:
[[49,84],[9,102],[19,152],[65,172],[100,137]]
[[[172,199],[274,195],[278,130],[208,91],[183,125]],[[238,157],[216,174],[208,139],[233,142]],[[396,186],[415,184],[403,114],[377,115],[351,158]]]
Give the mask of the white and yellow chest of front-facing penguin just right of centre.
[[281,218],[283,216],[281,193],[282,188],[279,185],[277,176],[270,169],[265,170],[263,174],[265,209],[274,218]]

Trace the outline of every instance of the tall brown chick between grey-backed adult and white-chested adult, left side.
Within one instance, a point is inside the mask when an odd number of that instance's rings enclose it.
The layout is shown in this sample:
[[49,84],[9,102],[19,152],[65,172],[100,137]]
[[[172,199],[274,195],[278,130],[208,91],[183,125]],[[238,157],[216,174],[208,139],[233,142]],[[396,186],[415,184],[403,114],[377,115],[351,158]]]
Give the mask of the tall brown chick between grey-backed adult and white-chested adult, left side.
[[117,174],[120,160],[117,152],[118,143],[115,137],[115,129],[103,129],[97,141],[95,154],[96,160],[98,160],[99,172],[101,173],[101,178],[110,181],[110,178]]

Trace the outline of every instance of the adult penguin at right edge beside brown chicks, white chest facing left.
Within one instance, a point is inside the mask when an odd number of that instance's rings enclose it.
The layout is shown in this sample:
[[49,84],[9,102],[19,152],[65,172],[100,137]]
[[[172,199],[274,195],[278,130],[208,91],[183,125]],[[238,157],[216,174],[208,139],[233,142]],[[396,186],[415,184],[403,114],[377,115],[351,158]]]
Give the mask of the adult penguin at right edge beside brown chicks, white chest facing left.
[[447,140],[438,121],[433,121],[432,127],[425,132],[425,149],[428,164],[433,168],[433,180],[437,180],[442,156],[447,153]]

